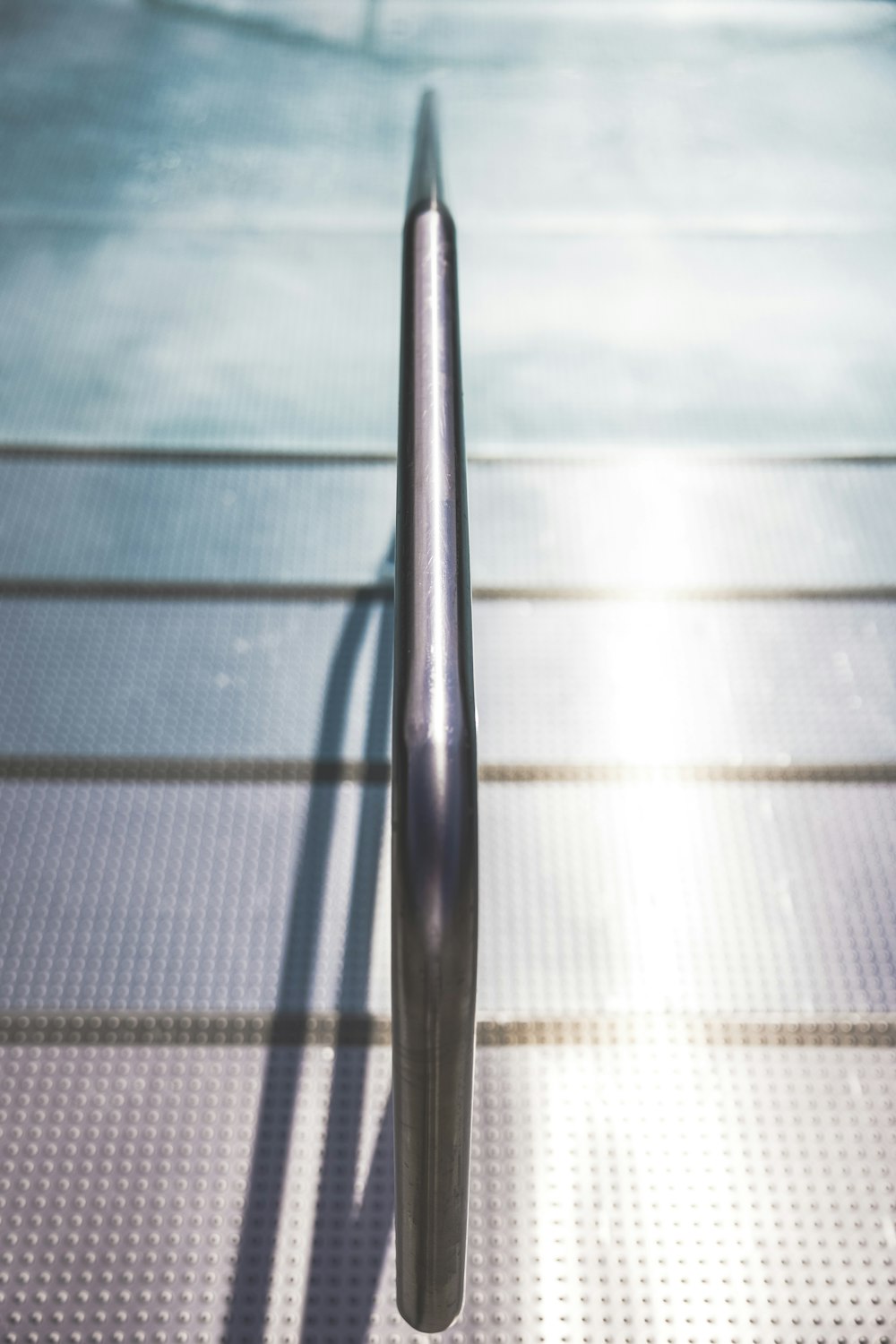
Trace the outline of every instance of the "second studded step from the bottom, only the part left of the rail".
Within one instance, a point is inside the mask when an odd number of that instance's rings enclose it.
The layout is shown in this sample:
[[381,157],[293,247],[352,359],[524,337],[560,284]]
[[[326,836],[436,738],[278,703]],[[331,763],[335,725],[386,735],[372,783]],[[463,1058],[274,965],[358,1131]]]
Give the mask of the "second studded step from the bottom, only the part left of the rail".
[[0,1005],[388,1008],[388,794],[0,785]]

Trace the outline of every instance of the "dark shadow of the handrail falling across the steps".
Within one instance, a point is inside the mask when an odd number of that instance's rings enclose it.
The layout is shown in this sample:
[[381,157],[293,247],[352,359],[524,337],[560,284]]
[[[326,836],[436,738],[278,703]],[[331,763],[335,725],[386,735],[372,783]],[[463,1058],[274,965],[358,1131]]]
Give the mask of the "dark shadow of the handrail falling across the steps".
[[[394,547],[387,562],[391,562]],[[343,755],[348,708],[357,661],[379,603],[357,599],[345,618],[324,696],[316,759]],[[373,685],[364,742],[364,761],[387,755],[392,696],[392,609],[382,607]],[[339,785],[314,782],[297,863],[289,929],[283,948],[273,1038],[278,1020],[308,1011],[321,938],[322,898],[334,836]],[[339,1009],[364,1005],[379,859],[388,798],[384,785],[365,785],[361,794]],[[265,1339],[273,1288],[278,1228],[298,1098],[302,1048],[273,1044],[267,1051],[258,1106],[255,1146],[243,1206],[240,1239],[227,1314],[226,1344],[259,1344]],[[333,1062],[324,1160],[312,1234],[310,1267],[298,1340],[302,1344],[360,1344],[365,1337],[392,1227],[392,1107],[386,1106],[360,1206],[355,1207],[355,1168],[361,1137],[361,1110],[368,1051],[339,1044]]]

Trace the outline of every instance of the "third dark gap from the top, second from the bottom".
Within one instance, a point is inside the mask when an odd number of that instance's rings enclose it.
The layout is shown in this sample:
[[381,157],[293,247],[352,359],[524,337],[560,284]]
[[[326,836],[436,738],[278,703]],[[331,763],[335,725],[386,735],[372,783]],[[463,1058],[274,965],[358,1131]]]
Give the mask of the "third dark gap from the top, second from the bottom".
[[[480,765],[480,784],[896,784],[896,761],[776,765],[531,762]],[[388,761],[251,757],[0,755],[0,780],[134,784],[388,784]]]

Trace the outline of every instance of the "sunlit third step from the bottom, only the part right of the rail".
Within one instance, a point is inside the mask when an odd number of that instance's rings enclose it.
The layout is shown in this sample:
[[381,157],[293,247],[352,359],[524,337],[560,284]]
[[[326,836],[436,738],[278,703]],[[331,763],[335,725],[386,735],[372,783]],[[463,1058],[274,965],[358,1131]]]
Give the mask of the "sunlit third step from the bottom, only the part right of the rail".
[[870,763],[896,750],[888,603],[493,602],[474,640],[486,765]]

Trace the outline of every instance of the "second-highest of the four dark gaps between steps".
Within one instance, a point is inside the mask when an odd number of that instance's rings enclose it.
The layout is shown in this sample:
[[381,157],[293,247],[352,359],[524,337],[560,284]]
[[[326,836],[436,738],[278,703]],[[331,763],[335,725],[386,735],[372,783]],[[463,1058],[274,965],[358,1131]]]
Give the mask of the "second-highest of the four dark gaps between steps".
[[[392,599],[391,581],[313,583],[218,579],[3,578],[0,598],[116,602],[364,602]],[[896,583],[844,587],[473,586],[477,602],[896,602]]]

